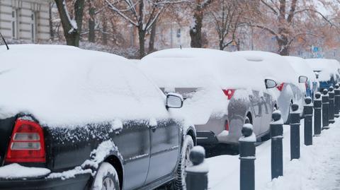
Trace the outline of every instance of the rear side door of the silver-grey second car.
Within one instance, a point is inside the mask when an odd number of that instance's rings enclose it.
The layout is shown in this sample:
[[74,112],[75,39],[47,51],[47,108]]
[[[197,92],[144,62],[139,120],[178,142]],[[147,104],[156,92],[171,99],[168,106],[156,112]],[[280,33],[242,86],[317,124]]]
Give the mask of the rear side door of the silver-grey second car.
[[259,91],[251,90],[252,94],[249,95],[249,100],[251,102],[251,117],[254,127],[254,132],[256,135],[259,135],[261,129],[261,117],[262,117],[262,106],[261,106],[261,97]]

